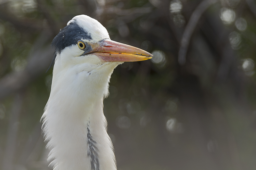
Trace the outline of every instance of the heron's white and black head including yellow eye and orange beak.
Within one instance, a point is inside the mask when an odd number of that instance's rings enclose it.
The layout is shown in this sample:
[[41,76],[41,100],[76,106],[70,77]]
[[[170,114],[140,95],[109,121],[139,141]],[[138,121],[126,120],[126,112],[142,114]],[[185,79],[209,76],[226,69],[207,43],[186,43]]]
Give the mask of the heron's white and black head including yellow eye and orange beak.
[[86,15],[72,18],[53,39],[61,67],[85,64],[90,69],[116,67],[123,62],[142,61],[152,55],[142,49],[110,40],[107,29]]

